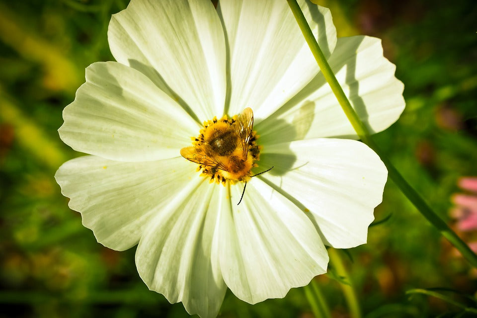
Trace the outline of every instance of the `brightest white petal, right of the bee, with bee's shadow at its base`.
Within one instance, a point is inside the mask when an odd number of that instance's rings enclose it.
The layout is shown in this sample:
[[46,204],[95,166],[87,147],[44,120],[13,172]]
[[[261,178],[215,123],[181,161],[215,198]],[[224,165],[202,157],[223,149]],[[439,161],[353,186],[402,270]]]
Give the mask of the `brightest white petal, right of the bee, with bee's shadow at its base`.
[[388,171],[365,144],[313,139],[264,147],[259,176],[299,202],[323,241],[336,248],[366,242],[373,210],[381,203]]

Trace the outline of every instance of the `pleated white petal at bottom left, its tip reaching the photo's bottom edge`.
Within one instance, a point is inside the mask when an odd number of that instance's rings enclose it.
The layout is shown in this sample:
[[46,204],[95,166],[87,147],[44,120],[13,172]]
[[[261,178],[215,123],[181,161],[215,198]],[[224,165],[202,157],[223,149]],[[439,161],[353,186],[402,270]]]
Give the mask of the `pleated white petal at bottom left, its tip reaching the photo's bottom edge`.
[[227,290],[216,234],[226,202],[216,195],[222,185],[196,175],[143,229],[136,265],[148,287],[170,303],[182,302],[191,315],[215,318]]

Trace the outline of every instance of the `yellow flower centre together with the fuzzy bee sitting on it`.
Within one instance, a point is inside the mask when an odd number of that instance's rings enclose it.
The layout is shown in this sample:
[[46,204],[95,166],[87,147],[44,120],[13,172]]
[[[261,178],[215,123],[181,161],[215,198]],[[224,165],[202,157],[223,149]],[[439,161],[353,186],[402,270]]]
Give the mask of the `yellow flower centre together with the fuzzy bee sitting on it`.
[[221,119],[204,122],[198,137],[192,137],[192,147],[182,148],[180,155],[199,164],[198,171],[210,177],[210,182],[224,185],[247,182],[251,169],[259,160],[261,147],[256,144],[258,135],[253,131],[253,112],[245,108],[231,119],[224,115]]

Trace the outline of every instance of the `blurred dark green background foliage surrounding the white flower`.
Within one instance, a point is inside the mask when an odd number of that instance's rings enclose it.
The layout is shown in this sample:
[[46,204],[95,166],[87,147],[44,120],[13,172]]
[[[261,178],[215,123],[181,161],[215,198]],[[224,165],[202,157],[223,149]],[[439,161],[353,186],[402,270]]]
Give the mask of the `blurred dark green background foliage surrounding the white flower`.
[[[405,178],[448,216],[461,176],[477,175],[477,1],[318,0],[330,7],[338,36],[383,39],[397,65],[407,106],[375,136]],[[58,137],[63,108],[84,68],[113,60],[112,13],[127,0],[0,1],[0,317],[188,317],[150,292],[135,249],[103,247],[68,208],[53,175],[78,157]],[[442,239],[389,181],[375,211],[386,222],[368,244],[338,251],[316,278],[333,317],[349,317],[357,295],[363,317],[471,317],[448,301],[406,295],[414,288],[475,306],[477,271]],[[465,240],[475,233],[459,233]],[[350,283],[350,285],[343,284]],[[313,317],[303,289],[251,306],[228,292],[221,317]]]

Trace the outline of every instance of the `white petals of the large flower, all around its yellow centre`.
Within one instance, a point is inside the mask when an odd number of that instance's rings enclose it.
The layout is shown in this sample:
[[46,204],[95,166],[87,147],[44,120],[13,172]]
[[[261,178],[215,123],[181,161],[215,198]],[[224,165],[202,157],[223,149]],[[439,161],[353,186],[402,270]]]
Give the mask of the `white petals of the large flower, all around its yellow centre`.
[[[374,132],[389,127],[403,85],[380,40],[336,40],[326,8],[300,5],[361,119]],[[108,39],[118,62],[86,69],[59,130],[92,156],[66,162],[56,179],[98,242],[139,243],[151,290],[215,317],[227,287],[251,304],[284,297],[326,272],[324,245],[366,242],[387,170],[343,139],[357,136],[286,1],[132,0]],[[248,182],[238,206],[242,182],[210,184],[179,151],[199,123],[245,107],[263,146],[255,170],[275,167]]]

